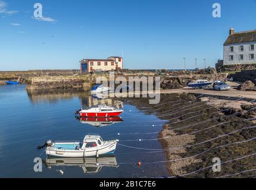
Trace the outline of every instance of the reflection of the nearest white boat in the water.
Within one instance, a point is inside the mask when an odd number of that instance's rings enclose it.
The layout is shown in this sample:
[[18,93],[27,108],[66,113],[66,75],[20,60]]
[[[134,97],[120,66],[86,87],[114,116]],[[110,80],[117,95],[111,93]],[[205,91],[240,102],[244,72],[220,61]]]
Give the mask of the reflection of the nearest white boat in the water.
[[45,165],[48,169],[52,166],[79,166],[84,173],[98,173],[102,167],[118,167],[115,157],[85,157],[85,158],[47,158]]

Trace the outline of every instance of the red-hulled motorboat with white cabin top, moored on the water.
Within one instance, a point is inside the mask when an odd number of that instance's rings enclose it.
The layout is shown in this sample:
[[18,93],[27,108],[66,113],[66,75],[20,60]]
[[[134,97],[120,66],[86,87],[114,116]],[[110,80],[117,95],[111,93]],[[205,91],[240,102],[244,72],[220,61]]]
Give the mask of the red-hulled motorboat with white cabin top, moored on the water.
[[79,113],[80,117],[108,118],[120,115],[123,113],[123,110],[112,106],[97,105],[89,109],[80,109],[76,113]]

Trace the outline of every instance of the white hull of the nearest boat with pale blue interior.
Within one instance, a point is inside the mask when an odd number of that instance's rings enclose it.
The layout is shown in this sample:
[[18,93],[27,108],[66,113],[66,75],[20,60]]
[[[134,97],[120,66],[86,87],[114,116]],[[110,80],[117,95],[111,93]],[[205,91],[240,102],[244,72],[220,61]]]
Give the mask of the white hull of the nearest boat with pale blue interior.
[[[117,141],[109,142],[102,147],[91,147],[85,150],[68,150],[65,148],[47,147],[46,155],[54,157],[92,157],[106,154],[114,154]],[[98,153],[97,153],[98,152]]]

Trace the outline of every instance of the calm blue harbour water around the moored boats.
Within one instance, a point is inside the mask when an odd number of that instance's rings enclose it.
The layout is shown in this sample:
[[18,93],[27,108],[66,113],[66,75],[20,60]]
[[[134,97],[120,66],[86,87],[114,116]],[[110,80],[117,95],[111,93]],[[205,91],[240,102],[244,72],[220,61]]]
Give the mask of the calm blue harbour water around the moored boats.
[[[123,122],[96,127],[80,122],[74,112],[82,106],[98,103],[123,107]],[[152,126],[152,125],[158,126]],[[83,140],[86,134],[99,134],[104,140],[133,140],[157,138],[158,134],[121,135],[135,132],[158,132],[164,124],[154,115],[146,115],[129,102],[114,99],[95,99],[81,91],[29,92],[25,85],[0,86],[0,178],[132,178],[168,176],[166,163],[143,164],[166,160],[163,153],[146,153],[117,145],[114,157],[98,160],[117,163],[114,166],[96,166],[96,159],[55,159],[46,160],[43,150],[38,150],[46,140]],[[121,144],[161,148],[159,141],[125,141]],[[42,154],[42,156],[40,156]],[[48,163],[43,164],[42,172],[34,172],[35,157]],[[138,167],[134,163],[142,162]],[[63,170],[61,175],[59,170]]]

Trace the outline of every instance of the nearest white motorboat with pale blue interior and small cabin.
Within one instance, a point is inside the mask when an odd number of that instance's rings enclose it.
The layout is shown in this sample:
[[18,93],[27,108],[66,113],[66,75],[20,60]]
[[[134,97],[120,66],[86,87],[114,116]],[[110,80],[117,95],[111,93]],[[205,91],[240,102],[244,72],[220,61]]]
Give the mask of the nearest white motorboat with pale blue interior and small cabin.
[[118,140],[103,141],[101,136],[96,134],[86,135],[83,144],[74,142],[46,142],[46,155],[54,157],[90,157],[104,154],[114,154]]

